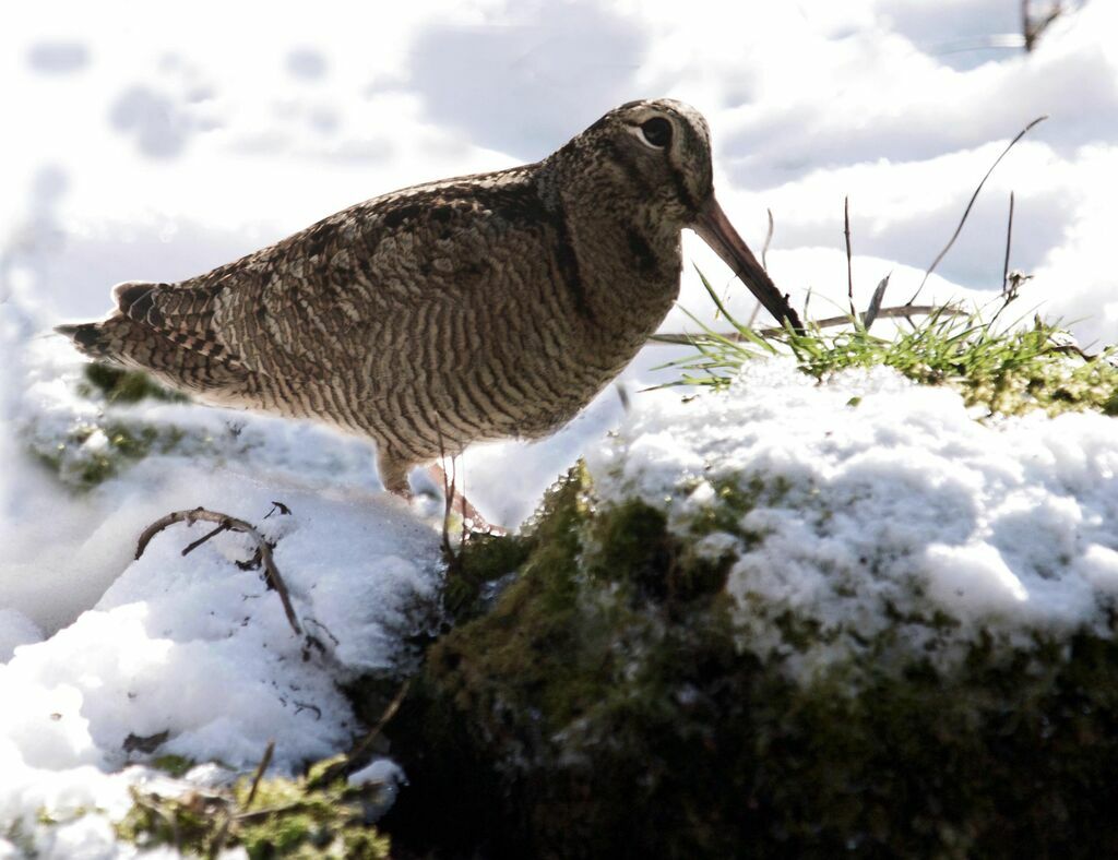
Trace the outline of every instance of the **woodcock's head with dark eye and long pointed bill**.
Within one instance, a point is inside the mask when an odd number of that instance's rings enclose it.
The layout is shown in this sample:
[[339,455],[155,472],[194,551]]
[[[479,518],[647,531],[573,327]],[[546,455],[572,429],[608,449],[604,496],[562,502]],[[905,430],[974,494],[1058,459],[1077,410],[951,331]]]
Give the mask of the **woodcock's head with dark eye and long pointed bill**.
[[694,230],[777,321],[799,317],[733,229],[718,200],[710,128],[702,114],[671,98],[616,107],[556,153],[565,181],[593,182],[598,204],[625,217],[639,210],[666,230]]

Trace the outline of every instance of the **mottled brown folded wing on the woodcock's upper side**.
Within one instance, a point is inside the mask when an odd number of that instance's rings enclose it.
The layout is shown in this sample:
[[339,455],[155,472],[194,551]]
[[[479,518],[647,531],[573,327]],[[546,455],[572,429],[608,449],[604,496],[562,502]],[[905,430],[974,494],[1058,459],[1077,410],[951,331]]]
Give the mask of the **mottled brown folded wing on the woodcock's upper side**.
[[[354,355],[408,348],[435,308],[492,300],[494,239],[540,246],[536,191],[515,171],[359,203],[191,281],[212,290],[212,325],[257,372],[337,372]],[[350,363],[339,365],[338,357]]]

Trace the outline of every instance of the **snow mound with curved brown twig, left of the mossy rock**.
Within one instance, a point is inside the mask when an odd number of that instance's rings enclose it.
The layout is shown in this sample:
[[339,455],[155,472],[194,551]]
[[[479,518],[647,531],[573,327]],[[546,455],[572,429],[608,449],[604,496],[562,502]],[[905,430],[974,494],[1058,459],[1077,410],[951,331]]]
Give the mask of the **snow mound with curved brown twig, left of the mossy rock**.
[[[295,611],[322,648],[293,632],[259,571],[237,566],[253,555],[246,536],[221,534],[182,555],[207,523],[157,535],[92,610],[46,641],[6,612],[0,643],[30,643],[0,665],[0,822],[21,822],[46,856],[78,845],[106,856],[129,786],[158,778],[126,767],[148,753],[247,770],[275,739],[276,770],[293,772],[348,748],[360,726],[338,684],[409,667],[404,640],[437,617],[438,535],[402,503],[233,470],[161,482],[159,466],[148,475],[151,512],[211,506],[276,541]],[[273,500],[292,513],[264,518]],[[83,815],[91,809],[103,814]],[[40,810],[74,820],[37,828]]]

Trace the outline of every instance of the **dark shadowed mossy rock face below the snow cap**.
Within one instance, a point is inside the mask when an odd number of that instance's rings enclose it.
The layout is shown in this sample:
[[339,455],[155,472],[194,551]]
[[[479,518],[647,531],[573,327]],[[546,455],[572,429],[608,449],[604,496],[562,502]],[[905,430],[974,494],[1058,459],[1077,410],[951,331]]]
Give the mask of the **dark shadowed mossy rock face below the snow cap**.
[[681,537],[642,503],[599,505],[576,470],[504,551],[464,548],[476,581],[523,561],[489,611],[430,648],[389,728],[410,782],[382,822],[395,847],[1118,853],[1105,823],[1118,772],[1111,638],[979,641],[949,670],[915,660],[863,667],[854,686],[805,684],[740,647],[723,589],[732,557],[697,552],[695,531]]

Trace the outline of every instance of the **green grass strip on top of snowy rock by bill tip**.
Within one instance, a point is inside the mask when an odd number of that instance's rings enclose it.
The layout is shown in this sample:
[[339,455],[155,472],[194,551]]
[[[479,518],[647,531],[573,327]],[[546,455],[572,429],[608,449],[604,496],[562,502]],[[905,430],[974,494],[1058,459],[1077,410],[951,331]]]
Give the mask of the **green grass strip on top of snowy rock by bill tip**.
[[[851,317],[842,331],[807,324],[803,333],[784,329],[766,334],[735,319],[700,273],[720,314],[733,328],[730,336],[713,331],[688,314],[701,328],[691,337],[694,355],[664,366],[682,371],[678,383],[723,386],[747,361],[766,355],[792,355],[804,373],[824,380],[851,367],[885,365],[916,382],[950,385],[969,407],[989,414],[1016,415],[1044,410],[1118,414],[1118,367],[1110,363],[1114,347],[1084,357],[1061,342],[1061,329],[1039,317],[1032,327],[996,327],[998,313],[985,321],[982,312],[959,314],[940,308],[891,337],[871,333]],[[1004,307],[1004,305],[1003,305]]]

